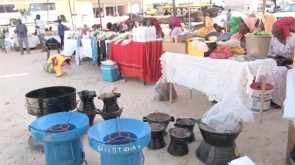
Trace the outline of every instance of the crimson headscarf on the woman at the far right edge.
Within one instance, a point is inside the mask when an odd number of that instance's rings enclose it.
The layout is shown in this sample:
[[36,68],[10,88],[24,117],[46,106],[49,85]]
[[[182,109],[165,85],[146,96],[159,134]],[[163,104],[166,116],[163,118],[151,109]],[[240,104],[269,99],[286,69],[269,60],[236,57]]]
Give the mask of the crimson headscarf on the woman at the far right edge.
[[293,32],[294,28],[291,27],[295,24],[295,19],[293,17],[284,17],[277,20],[274,25],[279,29],[279,31],[284,32],[284,37],[290,36],[290,31]]

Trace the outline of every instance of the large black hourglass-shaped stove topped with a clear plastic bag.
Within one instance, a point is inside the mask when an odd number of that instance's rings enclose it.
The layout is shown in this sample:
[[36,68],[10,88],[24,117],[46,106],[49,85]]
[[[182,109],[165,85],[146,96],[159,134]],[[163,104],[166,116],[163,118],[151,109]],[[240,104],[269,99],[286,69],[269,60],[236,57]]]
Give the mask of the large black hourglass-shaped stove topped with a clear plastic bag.
[[216,133],[211,127],[197,121],[203,140],[196,150],[196,157],[206,165],[227,165],[239,157],[236,138],[243,130],[241,122],[233,131]]

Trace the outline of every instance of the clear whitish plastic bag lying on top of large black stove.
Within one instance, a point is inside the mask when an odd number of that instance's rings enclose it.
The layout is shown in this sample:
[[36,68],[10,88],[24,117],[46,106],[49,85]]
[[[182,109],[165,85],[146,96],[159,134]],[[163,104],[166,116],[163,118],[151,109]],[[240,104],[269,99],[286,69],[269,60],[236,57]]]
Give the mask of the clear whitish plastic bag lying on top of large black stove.
[[228,93],[222,100],[208,110],[202,121],[217,133],[233,131],[238,122],[254,122],[253,112],[250,111],[238,97],[237,93]]

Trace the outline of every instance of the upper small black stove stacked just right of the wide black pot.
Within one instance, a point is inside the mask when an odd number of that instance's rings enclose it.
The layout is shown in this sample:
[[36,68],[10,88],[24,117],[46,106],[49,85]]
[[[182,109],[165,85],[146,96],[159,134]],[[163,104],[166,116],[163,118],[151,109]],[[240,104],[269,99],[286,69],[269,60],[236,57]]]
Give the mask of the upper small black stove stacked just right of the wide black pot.
[[80,97],[79,111],[92,111],[96,109],[93,102],[94,97],[96,97],[95,91],[82,90],[78,92],[78,95]]

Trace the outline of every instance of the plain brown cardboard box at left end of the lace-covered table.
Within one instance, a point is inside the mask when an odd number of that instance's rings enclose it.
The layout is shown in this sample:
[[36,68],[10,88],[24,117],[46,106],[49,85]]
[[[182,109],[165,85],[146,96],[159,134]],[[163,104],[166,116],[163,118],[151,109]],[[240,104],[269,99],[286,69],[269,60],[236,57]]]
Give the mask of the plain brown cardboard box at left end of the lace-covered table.
[[163,52],[187,54],[187,42],[184,42],[184,43],[163,42]]

